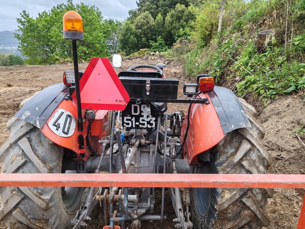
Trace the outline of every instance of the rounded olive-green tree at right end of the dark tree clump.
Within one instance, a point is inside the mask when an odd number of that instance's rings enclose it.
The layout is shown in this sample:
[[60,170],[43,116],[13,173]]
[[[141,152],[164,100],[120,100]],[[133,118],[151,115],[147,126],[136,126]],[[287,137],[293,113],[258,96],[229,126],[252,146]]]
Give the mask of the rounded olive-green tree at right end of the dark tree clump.
[[164,22],[164,34],[167,45],[173,45],[176,34],[189,23],[190,18],[192,18],[192,11],[179,3],[175,9],[172,9],[167,14]]

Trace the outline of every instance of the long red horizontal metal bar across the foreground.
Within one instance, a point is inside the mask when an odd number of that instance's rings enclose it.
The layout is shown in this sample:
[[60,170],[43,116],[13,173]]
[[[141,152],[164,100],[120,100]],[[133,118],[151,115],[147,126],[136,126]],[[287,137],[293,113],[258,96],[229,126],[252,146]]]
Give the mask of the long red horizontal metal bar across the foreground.
[[305,175],[283,174],[0,174],[0,187],[305,188]]

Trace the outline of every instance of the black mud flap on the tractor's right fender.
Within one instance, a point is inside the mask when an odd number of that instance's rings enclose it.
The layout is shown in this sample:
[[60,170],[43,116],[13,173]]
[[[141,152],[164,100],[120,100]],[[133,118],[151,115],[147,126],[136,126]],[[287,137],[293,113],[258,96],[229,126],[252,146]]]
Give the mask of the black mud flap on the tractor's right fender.
[[214,87],[214,90],[208,92],[208,95],[215,107],[224,134],[239,128],[251,128],[242,104],[231,90]]

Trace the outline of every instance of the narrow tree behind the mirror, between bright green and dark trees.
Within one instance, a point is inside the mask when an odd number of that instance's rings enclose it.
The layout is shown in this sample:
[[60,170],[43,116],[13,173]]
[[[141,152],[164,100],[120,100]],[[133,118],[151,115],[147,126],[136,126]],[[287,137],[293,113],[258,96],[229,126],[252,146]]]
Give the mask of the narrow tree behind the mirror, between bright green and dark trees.
[[119,50],[119,33],[122,28],[122,22],[115,19],[104,20],[106,24],[106,44],[110,53],[117,53]]

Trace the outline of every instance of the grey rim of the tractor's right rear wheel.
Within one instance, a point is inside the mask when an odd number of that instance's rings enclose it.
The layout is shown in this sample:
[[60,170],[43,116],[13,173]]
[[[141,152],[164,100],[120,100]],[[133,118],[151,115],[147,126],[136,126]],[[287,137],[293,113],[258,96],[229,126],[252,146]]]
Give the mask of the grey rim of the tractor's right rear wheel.
[[[212,173],[210,163],[204,162],[202,167],[196,169],[196,173]],[[193,194],[197,214],[203,219],[209,207],[210,188],[193,188]]]

